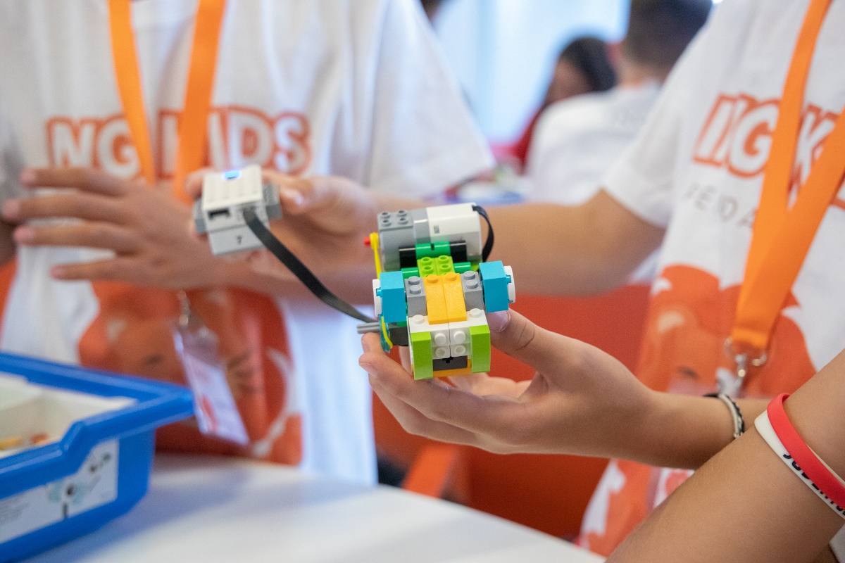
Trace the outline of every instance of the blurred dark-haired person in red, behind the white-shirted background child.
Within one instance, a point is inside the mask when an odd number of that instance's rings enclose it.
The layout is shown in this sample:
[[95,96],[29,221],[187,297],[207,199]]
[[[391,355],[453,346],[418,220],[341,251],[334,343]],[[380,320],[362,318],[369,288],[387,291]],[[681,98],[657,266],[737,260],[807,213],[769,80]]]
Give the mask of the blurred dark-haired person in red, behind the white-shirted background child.
[[521,171],[525,170],[528,149],[543,111],[572,96],[604,92],[616,84],[616,73],[608,57],[608,45],[597,37],[579,37],[560,51],[554,63],[552,81],[540,109],[534,114],[525,132],[508,153],[513,156]]

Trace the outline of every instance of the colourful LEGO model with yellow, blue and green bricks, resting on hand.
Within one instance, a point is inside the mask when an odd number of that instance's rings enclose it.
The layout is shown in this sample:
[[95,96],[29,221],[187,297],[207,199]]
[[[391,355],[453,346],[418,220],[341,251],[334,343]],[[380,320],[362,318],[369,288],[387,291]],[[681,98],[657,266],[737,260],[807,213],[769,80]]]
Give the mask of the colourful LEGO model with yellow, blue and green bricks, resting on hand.
[[507,310],[516,293],[510,266],[485,262],[493,231],[482,249],[481,216],[473,203],[385,212],[365,241],[379,275],[373,299],[382,345],[410,347],[415,379],[490,369],[486,313]]

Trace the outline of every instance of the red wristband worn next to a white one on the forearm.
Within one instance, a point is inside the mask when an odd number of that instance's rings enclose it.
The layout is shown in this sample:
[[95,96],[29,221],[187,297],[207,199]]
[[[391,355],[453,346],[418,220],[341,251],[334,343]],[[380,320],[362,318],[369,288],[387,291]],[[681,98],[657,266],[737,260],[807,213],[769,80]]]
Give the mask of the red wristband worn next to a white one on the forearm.
[[[782,393],[771,399],[766,412],[769,414],[771,428],[775,430],[777,438],[793,458],[793,467],[800,469],[831,501],[837,506],[845,507],[845,485],[842,485],[835,474],[821,463],[819,457],[801,439],[798,430],[789,422],[783,403],[789,397]],[[797,467],[796,467],[797,466]]]

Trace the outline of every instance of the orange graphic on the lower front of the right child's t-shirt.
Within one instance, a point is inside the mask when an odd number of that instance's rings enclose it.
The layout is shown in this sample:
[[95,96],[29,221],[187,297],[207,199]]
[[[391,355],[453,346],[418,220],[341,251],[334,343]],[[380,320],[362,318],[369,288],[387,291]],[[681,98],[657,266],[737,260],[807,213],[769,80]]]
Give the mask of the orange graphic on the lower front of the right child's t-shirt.
[[[715,391],[717,371],[733,373],[736,368],[725,353],[725,340],[738,299],[739,285],[720,289],[715,276],[699,269],[676,265],[663,270],[654,284],[646,318],[638,369],[641,381],[661,391],[695,395]],[[800,307],[793,295],[787,298],[788,307]],[[747,395],[759,397],[793,392],[814,373],[804,335],[792,319],[781,315],[769,359],[750,373],[744,389]],[[581,536],[581,544],[602,555],[609,555],[685,479],[685,472],[661,471],[640,463],[616,461],[613,467],[619,472],[617,486],[597,490],[591,501],[607,506],[588,511],[607,514],[607,521],[603,526],[585,521]]]

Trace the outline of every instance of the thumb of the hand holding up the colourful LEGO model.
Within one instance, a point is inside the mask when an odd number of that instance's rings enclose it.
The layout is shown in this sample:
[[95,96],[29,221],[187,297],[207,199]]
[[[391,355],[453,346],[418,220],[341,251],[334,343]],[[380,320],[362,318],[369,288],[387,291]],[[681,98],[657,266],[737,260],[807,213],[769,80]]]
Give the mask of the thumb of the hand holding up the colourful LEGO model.
[[580,344],[538,327],[511,309],[488,313],[487,320],[491,344],[537,371],[557,371],[569,365]]

